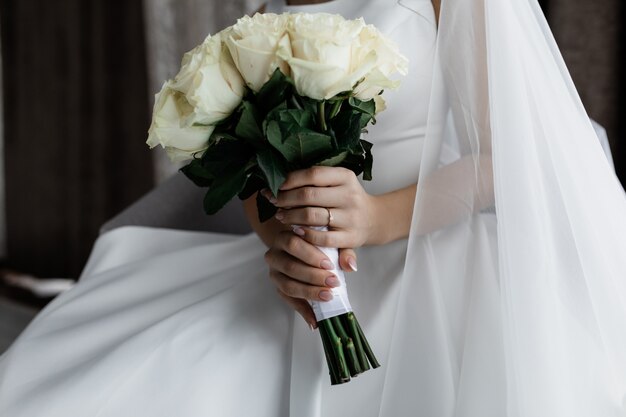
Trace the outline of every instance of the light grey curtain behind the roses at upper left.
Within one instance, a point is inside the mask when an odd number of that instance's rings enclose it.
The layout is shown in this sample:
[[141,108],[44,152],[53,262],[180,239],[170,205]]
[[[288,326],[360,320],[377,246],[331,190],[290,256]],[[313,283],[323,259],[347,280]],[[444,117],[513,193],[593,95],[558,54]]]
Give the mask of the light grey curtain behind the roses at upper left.
[[[144,0],[150,101],[163,82],[176,75],[185,52],[210,33],[232,25],[238,17],[253,13],[263,0]],[[154,152],[157,182],[178,166],[160,150]]]

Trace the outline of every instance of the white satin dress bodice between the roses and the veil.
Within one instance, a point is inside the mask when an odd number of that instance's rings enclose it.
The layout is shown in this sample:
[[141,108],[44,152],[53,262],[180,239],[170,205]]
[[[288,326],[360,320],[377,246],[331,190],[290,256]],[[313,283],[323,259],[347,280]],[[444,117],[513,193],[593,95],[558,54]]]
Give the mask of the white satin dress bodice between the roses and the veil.
[[374,179],[364,182],[381,194],[417,182],[432,83],[437,26],[430,0],[334,0],[287,6],[271,0],[268,12],[336,13],[348,19],[363,17],[393,39],[409,60],[409,72],[398,90],[385,91],[387,110],[368,127],[365,139],[374,143]]

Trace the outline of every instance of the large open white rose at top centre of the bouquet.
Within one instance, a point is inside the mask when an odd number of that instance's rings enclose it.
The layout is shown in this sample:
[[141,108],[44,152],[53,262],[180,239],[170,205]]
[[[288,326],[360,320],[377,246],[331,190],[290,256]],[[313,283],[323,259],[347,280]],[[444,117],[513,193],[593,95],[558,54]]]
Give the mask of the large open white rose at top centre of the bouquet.
[[[345,20],[327,13],[291,15],[289,35],[293,55],[281,58],[291,67],[300,95],[329,99],[352,90],[370,72],[375,56],[355,53],[364,27],[363,19]],[[355,62],[355,58],[359,61]]]

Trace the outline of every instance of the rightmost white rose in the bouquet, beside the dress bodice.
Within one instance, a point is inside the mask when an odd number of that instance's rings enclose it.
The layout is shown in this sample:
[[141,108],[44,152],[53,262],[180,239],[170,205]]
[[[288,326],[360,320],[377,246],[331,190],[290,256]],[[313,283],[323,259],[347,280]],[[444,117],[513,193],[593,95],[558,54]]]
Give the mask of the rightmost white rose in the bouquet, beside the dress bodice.
[[382,90],[399,86],[400,81],[392,77],[396,73],[406,75],[409,63],[398,50],[398,46],[372,25],[363,28],[360,41],[355,61],[367,59],[373,53],[376,63],[372,71],[356,86],[354,95],[361,100],[379,98]]

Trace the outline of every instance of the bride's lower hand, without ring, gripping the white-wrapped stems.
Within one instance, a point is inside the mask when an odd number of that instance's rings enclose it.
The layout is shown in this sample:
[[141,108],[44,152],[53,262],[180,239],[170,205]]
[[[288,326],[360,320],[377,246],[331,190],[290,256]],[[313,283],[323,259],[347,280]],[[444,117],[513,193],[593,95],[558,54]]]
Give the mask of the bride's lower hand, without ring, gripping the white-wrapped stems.
[[[346,254],[356,259],[352,250],[346,251]],[[306,300],[332,299],[330,290],[339,285],[339,280],[330,272],[334,269],[330,259],[293,232],[282,231],[265,253],[265,261],[278,294],[300,313],[309,325],[317,327],[313,310]],[[353,270],[345,260],[340,260],[340,267],[348,271]]]

